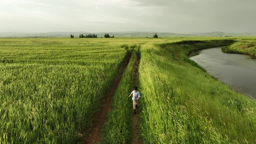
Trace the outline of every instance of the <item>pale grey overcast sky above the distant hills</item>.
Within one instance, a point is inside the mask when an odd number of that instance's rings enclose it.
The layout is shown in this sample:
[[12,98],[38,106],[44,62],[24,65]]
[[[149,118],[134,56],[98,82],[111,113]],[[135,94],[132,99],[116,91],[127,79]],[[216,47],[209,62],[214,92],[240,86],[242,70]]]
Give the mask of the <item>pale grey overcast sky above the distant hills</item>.
[[1,0],[0,32],[256,32],[256,0]]

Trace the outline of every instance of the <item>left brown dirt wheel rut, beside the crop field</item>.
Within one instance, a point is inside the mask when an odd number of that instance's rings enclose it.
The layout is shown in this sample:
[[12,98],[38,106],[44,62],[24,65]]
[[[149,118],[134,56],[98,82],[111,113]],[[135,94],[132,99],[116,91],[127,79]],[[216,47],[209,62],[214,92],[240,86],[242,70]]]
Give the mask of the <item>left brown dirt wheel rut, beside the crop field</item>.
[[109,111],[111,111],[111,103],[112,103],[112,97],[115,94],[115,90],[117,89],[118,83],[121,80],[121,77],[123,75],[124,70],[126,69],[129,60],[131,58],[131,54],[127,53],[125,62],[123,66],[120,68],[118,74],[116,75],[112,86],[108,90],[105,98],[104,103],[100,107],[99,112],[96,114],[95,120],[92,122],[90,128],[89,128],[89,136],[84,137],[83,144],[93,144],[96,142],[101,142],[102,138],[102,126],[106,122],[106,115]]

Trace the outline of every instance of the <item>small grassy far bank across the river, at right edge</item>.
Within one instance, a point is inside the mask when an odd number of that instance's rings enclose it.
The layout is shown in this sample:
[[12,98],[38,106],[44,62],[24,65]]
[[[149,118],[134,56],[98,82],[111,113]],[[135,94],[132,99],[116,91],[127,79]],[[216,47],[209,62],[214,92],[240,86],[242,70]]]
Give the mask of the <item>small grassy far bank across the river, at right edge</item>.
[[237,53],[256,56],[256,42],[236,42],[221,48],[224,53]]

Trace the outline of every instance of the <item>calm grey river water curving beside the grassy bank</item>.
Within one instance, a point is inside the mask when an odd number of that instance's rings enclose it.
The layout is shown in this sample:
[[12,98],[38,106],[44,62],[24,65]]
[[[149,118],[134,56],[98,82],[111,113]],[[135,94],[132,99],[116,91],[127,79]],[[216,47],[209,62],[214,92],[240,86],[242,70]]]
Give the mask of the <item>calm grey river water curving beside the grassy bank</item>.
[[[198,52],[197,52],[198,53]],[[203,66],[209,74],[234,89],[256,98],[256,59],[248,55],[227,54],[221,48],[202,50],[190,57]]]

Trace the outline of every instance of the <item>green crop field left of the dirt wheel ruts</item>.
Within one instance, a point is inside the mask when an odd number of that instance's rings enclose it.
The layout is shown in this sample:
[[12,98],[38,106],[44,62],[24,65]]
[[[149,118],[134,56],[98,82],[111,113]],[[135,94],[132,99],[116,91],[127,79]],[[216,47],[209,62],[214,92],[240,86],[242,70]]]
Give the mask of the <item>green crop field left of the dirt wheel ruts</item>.
[[0,143],[75,143],[126,50],[22,40],[0,42]]

